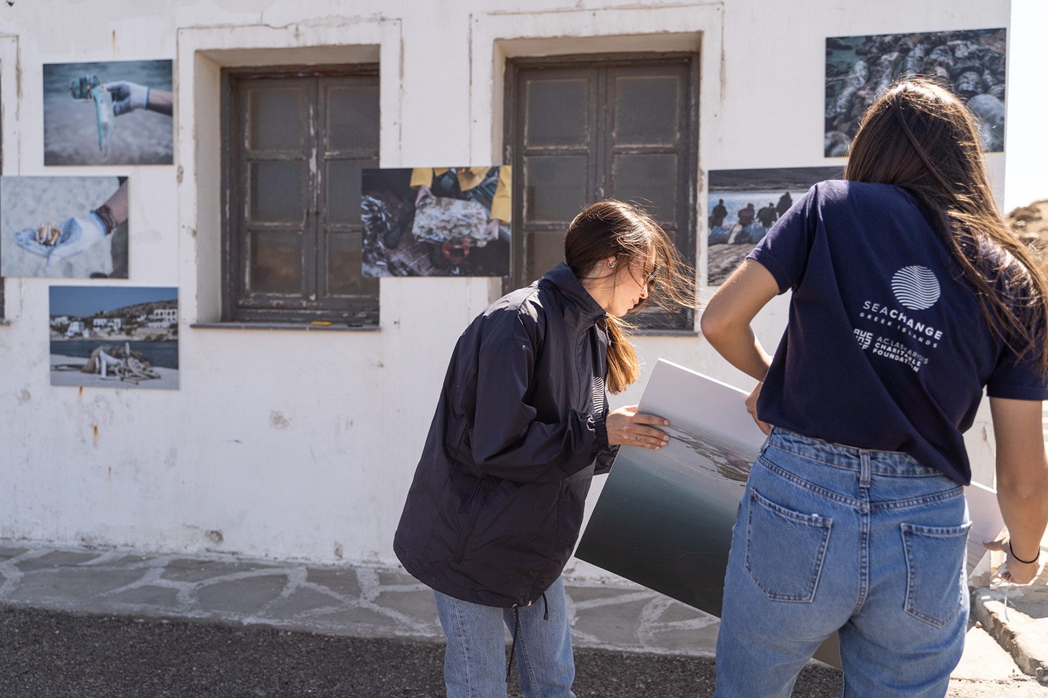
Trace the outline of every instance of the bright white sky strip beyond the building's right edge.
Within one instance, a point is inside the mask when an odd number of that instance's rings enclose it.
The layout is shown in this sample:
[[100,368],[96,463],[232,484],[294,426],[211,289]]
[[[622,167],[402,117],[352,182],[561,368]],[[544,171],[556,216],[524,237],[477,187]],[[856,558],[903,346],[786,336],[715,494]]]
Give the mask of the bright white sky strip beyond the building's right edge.
[[1048,2],[1011,0],[1004,210],[1048,199]]

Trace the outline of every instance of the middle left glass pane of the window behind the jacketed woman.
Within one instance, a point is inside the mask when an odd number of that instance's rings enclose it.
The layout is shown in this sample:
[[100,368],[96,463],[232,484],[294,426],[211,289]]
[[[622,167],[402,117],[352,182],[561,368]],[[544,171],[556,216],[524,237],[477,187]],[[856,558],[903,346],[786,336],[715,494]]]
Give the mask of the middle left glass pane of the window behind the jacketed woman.
[[524,158],[524,218],[570,221],[586,205],[585,155]]

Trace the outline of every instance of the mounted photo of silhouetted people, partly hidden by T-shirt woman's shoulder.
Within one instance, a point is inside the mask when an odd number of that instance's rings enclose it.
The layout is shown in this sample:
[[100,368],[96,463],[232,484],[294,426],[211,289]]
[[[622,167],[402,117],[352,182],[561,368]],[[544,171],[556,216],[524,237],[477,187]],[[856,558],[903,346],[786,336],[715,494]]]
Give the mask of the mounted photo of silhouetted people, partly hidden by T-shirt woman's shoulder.
[[843,174],[843,167],[712,171],[706,284],[723,284],[812,184]]

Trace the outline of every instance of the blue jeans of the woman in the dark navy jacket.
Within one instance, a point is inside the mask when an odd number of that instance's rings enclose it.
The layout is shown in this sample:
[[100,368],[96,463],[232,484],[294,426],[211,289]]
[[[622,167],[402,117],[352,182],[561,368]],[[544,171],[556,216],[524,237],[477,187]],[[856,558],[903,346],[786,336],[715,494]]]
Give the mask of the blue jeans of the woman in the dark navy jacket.
[[[437,615],[447,636],[444,685],[447,698],[506,695],[506,645],[503,624],[514,632],[511,608],[471,604],[434,591]],[[548,605],[549,618],[544,620]],[[540,598],[521,606],[517,635],[517,674],[525,698],[574,698],[571,683],[571,627],[564,580],[556,578]]]

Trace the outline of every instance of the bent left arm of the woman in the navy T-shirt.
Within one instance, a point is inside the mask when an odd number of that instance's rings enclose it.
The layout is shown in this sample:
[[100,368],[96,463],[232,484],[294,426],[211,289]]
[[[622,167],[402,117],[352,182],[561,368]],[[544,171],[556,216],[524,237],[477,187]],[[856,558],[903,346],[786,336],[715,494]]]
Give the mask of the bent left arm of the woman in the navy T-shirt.
[[706,303],[700,325],[709,345],[744,374],[763,381],[771,365],[749,323],[779,295],[774,276],[759,262],[745,260]]

